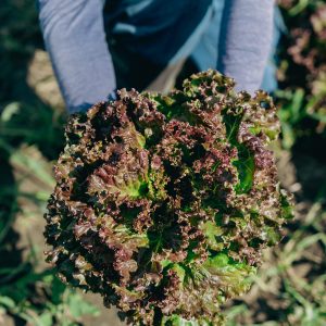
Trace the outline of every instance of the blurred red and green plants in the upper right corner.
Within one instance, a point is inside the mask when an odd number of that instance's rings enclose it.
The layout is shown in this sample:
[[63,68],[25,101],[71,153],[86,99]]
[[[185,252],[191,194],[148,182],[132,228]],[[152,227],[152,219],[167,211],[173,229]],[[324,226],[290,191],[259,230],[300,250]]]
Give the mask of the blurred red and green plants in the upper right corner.
[[[285,148],[304,137],[326,137],[326,3],[279,0],[287,27],[279,48],[276,97]],[[299,138],[299,139],[298,139]]]

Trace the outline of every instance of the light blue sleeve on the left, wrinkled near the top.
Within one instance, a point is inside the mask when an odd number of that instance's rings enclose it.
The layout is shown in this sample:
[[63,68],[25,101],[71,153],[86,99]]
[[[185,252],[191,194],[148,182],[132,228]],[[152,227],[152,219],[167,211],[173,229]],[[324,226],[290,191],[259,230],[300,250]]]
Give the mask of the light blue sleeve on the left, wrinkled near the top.
[[46,47],[71,113],[105,100],[115,89],[103,4],[103,0],[38,0]]

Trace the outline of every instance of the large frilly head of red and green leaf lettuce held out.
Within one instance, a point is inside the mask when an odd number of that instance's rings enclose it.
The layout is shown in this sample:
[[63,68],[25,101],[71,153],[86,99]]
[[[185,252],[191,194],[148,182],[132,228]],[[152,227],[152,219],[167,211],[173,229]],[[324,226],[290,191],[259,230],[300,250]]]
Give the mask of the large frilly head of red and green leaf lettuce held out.
[[[218,325],[292,217],[272,99],[208,71],[167,96],[73,115],[46,214],[47,260],[133,325]],[[188,324],[187,324],[188,325]]]

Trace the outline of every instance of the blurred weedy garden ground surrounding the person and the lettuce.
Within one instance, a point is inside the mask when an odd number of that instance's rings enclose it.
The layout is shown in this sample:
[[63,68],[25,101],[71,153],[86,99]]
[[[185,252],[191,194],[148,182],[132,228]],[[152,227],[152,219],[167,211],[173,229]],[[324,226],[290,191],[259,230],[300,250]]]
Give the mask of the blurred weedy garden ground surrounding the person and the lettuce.
[[[228,325],[326,323],[326,4],[280,0],[279,7],[287,33],[275,150],[297,218],[281,244],[265,252],[250,293],[226,308]],[[0,324],[118,325],[100,300],[65,287],[43,263],[42,214],[65,116],[35,1],[2,0],[0,20]]]

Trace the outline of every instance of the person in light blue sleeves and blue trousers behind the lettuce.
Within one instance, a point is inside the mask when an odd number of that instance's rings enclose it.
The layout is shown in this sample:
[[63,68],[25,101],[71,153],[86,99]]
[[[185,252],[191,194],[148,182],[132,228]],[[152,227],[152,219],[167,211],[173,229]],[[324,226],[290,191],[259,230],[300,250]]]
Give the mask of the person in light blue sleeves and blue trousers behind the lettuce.
[[70,113],[123,87],[166,91],[187,60],[234,77],[237,90],[275,88],[274,0],[38,0],[38,9]]

